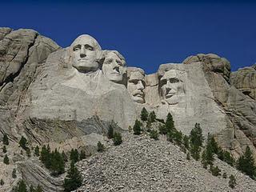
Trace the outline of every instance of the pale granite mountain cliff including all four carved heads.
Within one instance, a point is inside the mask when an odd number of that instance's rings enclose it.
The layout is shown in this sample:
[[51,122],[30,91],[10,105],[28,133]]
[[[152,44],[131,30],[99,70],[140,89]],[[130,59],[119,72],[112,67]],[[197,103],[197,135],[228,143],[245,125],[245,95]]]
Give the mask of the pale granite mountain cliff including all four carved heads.
[[[236,158],[246,146],[256,155],[255,68],[231,73],[226,58],[198,54],[145,74],[89,35],[61,48],[34,30],[0,28],[0,138],[90,154],[110,125],[128,130],[145,107],[157,118],[172,114],[184,134],[199,122]],[[18,164],[24,177],[50,182],[44,171],[30,173],[30,163]]]

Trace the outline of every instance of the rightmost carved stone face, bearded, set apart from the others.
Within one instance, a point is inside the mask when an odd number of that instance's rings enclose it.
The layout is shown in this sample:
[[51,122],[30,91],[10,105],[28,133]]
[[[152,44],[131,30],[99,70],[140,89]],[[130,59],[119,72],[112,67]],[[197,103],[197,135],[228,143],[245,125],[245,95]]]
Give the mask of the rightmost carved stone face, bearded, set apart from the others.
[[169,104],[178,103],[178,96],[184,93],[182,80],[178,70],[168,70],[160,79],[160,91],[163,99]]

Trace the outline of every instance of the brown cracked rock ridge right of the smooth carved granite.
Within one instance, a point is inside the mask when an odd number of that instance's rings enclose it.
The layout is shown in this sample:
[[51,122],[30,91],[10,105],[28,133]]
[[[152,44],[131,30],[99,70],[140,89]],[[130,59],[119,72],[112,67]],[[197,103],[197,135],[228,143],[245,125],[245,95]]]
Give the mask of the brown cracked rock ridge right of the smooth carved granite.
[[218,142],[232,150],[235,157],[242,154],[246,146],[255,153],[256,102],[230,85],[234,76],[232,74],[230,78],[230,64],[226,59],[214,54],[198,54],[186,58],[184,63],[194,65],[198,60],[204,65],[214,101],[226,114],[226,129],[218,133]]

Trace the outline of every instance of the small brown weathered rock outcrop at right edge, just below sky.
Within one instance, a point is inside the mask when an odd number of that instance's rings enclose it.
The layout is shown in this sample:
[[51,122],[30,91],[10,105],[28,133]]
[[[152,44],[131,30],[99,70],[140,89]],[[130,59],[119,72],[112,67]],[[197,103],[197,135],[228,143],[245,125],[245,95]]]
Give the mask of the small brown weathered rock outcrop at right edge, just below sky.
[[256,67],[245,67],[232,72],[230,84],[242,91],[243,94],[256,100]]

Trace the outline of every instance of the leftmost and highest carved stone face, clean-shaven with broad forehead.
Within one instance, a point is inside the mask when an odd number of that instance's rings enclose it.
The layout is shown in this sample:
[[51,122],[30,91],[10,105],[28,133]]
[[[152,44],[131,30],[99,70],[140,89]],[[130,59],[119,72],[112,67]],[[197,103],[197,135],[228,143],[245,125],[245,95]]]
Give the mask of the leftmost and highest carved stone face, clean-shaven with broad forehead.
[[70,46],[72,66],[82,73],[98,70],[100,52],[98,42],[90,35],[83,34]]

